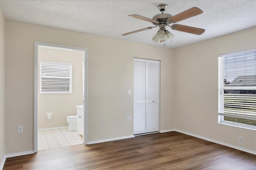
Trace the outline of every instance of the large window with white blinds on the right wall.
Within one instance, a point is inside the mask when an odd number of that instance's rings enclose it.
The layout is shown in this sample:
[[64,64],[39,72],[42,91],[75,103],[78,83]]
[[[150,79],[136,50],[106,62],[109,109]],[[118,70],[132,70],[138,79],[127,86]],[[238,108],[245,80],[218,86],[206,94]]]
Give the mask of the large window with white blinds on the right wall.
[[256,49],[219,55],[219,123],[256,130]]

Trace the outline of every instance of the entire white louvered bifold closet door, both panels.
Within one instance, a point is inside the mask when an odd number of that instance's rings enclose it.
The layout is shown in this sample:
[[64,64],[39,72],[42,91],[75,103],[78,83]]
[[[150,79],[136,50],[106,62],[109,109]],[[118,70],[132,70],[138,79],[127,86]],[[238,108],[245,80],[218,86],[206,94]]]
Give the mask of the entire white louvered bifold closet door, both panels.
[[159,131],[160,61],[134,58],[134,134]]

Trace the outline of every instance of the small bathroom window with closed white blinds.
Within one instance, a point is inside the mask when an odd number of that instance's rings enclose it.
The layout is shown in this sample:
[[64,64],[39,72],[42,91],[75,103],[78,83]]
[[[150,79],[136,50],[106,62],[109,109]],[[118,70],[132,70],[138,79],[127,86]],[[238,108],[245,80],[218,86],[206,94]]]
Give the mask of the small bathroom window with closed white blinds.
[[72,93],[72,64],[40,61],[40,94]]

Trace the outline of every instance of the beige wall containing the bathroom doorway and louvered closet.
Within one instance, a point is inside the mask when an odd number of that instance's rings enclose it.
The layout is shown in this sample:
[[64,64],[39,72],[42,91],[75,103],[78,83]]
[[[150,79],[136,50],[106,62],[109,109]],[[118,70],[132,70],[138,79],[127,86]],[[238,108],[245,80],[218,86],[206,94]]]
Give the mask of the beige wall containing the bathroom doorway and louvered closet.
[[88,141],[133,134],[134,57],[161,60],[160,130],[174,128],[173,49],[6,21],[6,154],[34,149],[35,41],[88,49]]

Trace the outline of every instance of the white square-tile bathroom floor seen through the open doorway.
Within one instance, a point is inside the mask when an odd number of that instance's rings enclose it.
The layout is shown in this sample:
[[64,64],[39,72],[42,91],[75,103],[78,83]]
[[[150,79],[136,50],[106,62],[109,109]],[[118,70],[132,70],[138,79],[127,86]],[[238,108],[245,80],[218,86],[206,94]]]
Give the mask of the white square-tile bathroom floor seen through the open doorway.
[[38,150],[83,144],[83,136],[68,128],[38,130]]

